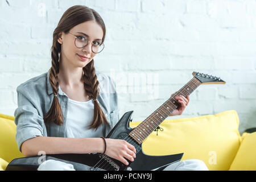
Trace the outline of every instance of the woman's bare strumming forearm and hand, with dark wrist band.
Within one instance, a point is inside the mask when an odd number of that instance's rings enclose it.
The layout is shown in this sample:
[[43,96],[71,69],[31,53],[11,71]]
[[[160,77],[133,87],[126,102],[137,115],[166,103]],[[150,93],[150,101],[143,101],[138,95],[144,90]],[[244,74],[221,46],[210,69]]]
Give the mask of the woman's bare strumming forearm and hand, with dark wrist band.
[[[44,151],[46,154],[102,153],[104,148],[104,141],[101,138],[61,137],[35,137],[26,140],[21,146],[24,156],[36,156],[39,151]],[[134,161],[136,149],[125,140],[106,138],[105,154],[128,165],[126,159]]]

